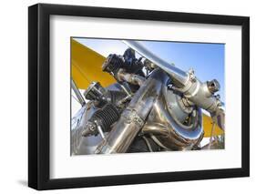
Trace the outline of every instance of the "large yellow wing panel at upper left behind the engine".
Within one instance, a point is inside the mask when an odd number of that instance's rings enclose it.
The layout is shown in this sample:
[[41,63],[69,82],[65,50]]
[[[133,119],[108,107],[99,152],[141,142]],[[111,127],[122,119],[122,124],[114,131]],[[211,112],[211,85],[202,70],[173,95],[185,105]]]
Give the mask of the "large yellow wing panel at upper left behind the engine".
[[98,81],[103,87],[116,82],[114,77],[103,72],[101,66],[105,57],[71,39],[71,74],[80,89],[86,89],[93,81]]

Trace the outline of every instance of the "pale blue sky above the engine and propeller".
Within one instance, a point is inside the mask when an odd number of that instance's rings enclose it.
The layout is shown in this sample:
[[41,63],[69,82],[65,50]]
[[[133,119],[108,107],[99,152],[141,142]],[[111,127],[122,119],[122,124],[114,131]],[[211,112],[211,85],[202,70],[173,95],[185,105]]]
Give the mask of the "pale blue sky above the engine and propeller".
[[[128,48],[120,40],[75,38],[79,43],[88,46],[102,56],[109,54],[122,55]],[[139,41],[148,50],[167,62],[174,63],[184,71],[193,68],[201,82],[216,78],[220,82],[220,99],[225,102],[225,45],[211,43],[183,43]],[[91,80],[93,81],[93,80]]]

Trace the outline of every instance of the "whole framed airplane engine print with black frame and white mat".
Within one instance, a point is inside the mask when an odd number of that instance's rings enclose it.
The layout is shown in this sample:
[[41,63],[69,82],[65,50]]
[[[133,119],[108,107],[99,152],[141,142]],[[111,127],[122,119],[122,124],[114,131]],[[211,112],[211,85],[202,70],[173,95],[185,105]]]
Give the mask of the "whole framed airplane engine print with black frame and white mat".
[[250,175],[250,19],[28,8],[28,186]]

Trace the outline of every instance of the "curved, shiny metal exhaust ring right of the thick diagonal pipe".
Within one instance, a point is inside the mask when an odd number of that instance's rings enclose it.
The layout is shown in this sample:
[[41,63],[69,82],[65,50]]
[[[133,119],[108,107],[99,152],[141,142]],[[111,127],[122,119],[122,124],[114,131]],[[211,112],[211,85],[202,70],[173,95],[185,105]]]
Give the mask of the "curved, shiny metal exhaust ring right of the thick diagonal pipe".
[[[168,77],[163,79],[161,95],[156,99],[152,107],[148,120],[142,132],[155,135],[159,141],[167,148],[179,150],[193,148],[200,143],[203,137],[202,115],[200,108],[193,108],[188,114],[186,110],[178,105],[169,108],[169,89],[167,88]],[[179,104],[180,97],[172,94],[172,100],[176,100],[171,105]],[[181,115],[181,116],[180,116]],[[184,116],[192,120],[189,124],[183,124]]]

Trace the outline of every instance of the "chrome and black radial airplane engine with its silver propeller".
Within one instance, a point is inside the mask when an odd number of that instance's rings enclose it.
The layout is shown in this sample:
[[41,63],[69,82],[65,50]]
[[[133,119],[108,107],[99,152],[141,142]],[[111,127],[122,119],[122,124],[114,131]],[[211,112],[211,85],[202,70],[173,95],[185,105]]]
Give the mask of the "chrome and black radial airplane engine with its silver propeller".
[[137,42],[125,42],[124,55],[111,54],[102,66],[117,83],[93,82],[84,93],[94,108],[82,136],[102,138],[94,153],[200,149],[201,108],[224,129],[216,79],[201,83],[193,70],[183,72]]

